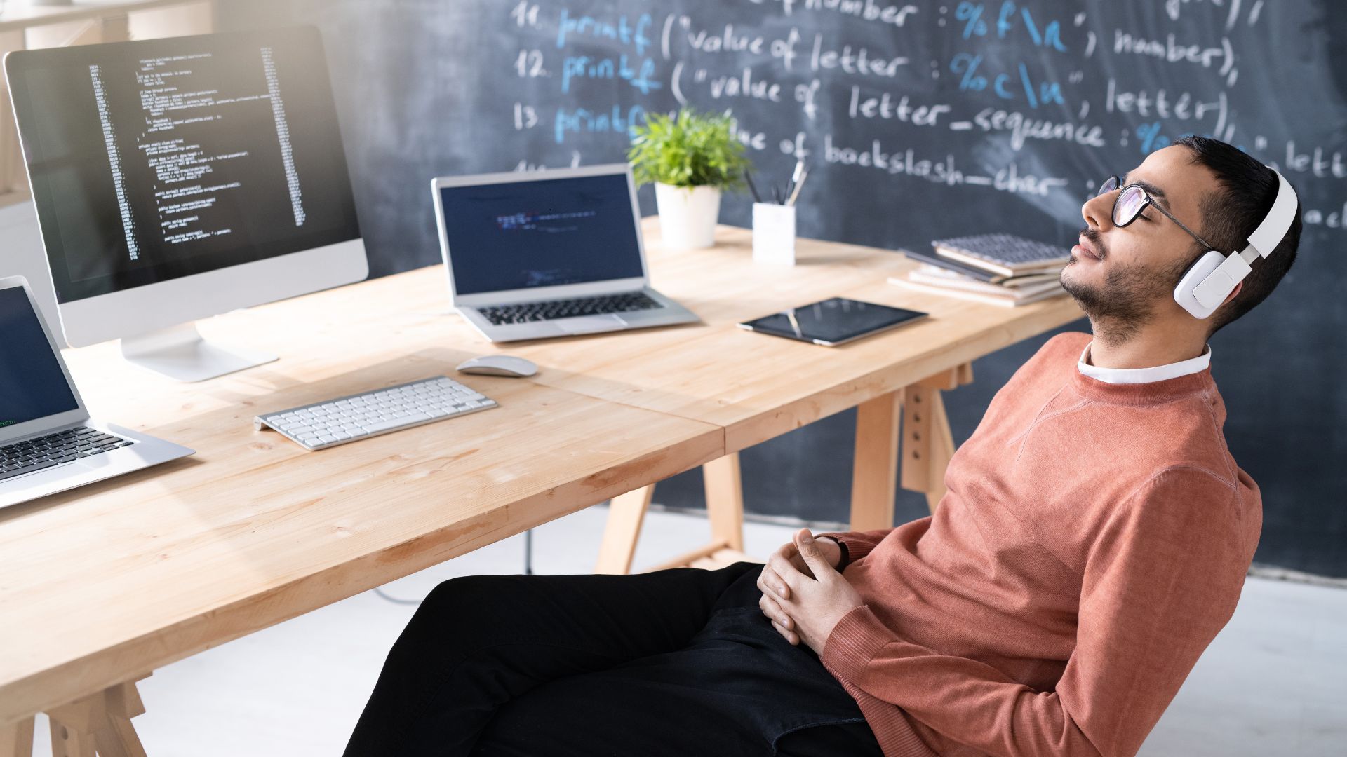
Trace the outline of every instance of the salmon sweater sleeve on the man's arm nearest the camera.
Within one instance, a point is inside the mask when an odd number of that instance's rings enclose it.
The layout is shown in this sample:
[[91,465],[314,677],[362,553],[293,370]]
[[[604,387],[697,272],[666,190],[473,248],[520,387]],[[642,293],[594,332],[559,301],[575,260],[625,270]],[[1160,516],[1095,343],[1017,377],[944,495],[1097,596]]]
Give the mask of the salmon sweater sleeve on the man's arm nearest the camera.
[[1234,613],[1253,559],[1239,504],[1224,481],[1171,467],[1114,511],[1088,550],[1076,647],[1055,691],[902,641],[865,605],[832,629],[823,663],[991,754],[1136,754]]

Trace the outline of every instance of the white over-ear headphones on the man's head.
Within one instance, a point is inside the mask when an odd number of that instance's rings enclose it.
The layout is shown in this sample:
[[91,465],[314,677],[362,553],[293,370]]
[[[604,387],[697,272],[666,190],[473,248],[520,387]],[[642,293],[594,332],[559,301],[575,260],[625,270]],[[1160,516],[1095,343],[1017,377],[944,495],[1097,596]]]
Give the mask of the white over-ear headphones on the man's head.
[[1290,230],[1299,203],[1296,190],[1290,189],[1290,183],[1276,168],[1272,168],[1272,172],[1277,174],[1277,199],[1273,201],[1272,210],[1263,217],[1262,224],[1249,234],[1249,246],[1228,256],[1210,251],[1188,268],[1175,287],[1175,302],[1193,318],[1207,318],[1215,312],[1253,269],[1250,264],[1254,259],[1268,257]]

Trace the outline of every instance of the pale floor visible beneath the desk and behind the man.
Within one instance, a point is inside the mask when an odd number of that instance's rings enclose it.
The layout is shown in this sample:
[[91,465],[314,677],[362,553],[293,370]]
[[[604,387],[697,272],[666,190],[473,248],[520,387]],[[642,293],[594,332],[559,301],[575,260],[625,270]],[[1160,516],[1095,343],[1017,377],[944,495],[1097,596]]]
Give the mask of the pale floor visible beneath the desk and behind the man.
[[[607,509],[533,532],[533,568],[590,572]],[[793,528],[746,524],[768,555]],[[696,547],[703,519],[651,513],[636,566]],[[384,587],[416,599],[455,575],[521,572],[523,535]],[[151,757],[341,754],[384,655],[415,610],[373,591],[189,657],[141,683]],[[35,754],[50,754],[39,717]],[[1347,590],[1262,578],[1141,749],[1146,757],[1347,756]]]

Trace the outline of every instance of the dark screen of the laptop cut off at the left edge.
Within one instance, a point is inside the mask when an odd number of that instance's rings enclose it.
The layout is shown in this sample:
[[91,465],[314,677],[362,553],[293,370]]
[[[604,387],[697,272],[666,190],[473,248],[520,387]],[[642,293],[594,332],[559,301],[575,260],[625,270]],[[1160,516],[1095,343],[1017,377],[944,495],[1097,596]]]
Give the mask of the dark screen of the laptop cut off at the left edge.
[[77,407],[28,294],[0,288],[0,427]]

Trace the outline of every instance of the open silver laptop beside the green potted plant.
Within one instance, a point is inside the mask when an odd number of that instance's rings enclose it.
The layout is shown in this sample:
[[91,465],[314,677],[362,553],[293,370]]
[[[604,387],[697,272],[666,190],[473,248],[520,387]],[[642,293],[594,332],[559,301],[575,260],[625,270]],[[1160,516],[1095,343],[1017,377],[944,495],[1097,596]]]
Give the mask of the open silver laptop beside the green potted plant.
[[625,163],[431,182],[449,292],[493,342],[691,323],[649,286]]

